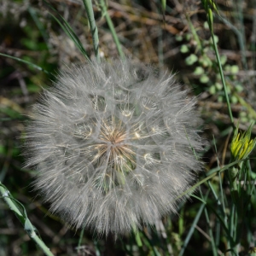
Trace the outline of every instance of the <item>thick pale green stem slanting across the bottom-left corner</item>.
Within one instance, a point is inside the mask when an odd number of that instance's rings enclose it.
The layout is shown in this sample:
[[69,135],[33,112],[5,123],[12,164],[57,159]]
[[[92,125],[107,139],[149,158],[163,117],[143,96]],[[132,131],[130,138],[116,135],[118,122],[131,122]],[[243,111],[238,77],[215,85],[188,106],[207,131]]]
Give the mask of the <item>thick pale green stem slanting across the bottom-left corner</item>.
[[[42,249],[42,251],[47,256],[54,256],[53,253],[49,251],[49,247],[47,247],[38,235],[35,232],[35,228],[33,227],[30,220],[26,217],[25,208],[20,204],[20,202],[16,201],[15,198],[10,194],[9,190],[0,182],[0,195],[2,195],[3,200],[9,206],[9,209],[15,212],[16,217],[20,220],[21,224],[24,225],[24,229],[30,238],[35,241],[35,243]],[[19,205],[19,207],[18,207]],[[20,212],[20,207],[23,207],[23,213]]]

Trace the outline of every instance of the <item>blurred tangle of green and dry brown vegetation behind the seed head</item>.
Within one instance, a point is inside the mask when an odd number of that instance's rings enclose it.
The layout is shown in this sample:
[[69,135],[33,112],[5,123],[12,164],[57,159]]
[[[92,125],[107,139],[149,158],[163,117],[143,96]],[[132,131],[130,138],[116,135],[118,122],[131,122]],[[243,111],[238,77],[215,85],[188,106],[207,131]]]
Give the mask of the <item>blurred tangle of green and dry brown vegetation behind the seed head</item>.
[[[93,3],[99,55],[116,58],[118,45],[114,43],[102,3]],[[97,239],[88,230],[81,234],[81,230],[69,229],[49,215],[49,206],[42,204],[30,186],[34,171],[21,169],[24,160],[20,156],[20,135],[32,103],[44,88],[51,86],[53,74],[59,69],[85,62],[84,55],[94,55],[84,4],[79,0],[47,3],[0,0],[0,53],[3,54],[0,55],[0,181],[26,208],[28,218],[55,255],[255,254],[255,160],[250,154],[250,160],[227,167],[241,159],[234,158],[230,152],[234,129],[207,17],[210,9],[214,13],[213,38],[218,44],[234,123],[241,132],[246,131],[256,119],[256,2],[202,3],[196,0],[107,2],[108,15],[125,55],[168,67],[176,73],[184,89],[192,89],[191,96],[197,96],[197,107],[204,119],[204,136],[209,141],[203,155],[205,171],[199,180],[211,177],[201,184],[191,201],[179,206],[178,215],[166,216],[137,236],[127,234],[113,241],[112,236]],[[252,127],[253,137],[255,132]],[[236,185],[232,185],[228,175],[231,171],[238,173]],[[3,200],[0,201],[2,255],[44,255]]]

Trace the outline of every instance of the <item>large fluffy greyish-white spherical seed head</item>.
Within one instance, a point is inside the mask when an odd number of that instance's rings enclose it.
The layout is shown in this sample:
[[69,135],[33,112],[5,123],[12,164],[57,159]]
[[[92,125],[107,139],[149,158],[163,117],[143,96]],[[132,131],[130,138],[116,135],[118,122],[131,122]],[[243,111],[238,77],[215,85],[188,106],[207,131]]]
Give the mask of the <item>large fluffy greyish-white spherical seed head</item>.
[[71,67],[44,91],[26,129],[35,187],[77,228],[107,235],[154,224],[176,212],[201,168],[194,107],[170,73],[153,67]]

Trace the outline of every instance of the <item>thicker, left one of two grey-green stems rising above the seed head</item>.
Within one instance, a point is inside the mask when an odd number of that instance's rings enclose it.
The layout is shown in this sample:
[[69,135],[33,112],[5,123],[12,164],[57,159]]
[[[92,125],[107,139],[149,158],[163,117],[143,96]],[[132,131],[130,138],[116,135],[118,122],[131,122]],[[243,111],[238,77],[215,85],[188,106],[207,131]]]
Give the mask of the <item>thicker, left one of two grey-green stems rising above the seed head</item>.
[[100,63],[101,58],[100,58],[100,55],[99,55],[98,29],[96,27],[94,13],[93,13],[93,9],[92,9],[92,3],[91,3],[90,0],[83,0],[83,3],[84,3],[84,8],[86,10],[86,14],[88,16],[89,23],[90,23],[90,32],[91,32],[91,36],[92,36],[93,49],[94,49],[94,52],[95,52],[95,55],[96,55],[96,61],[98,63]]

